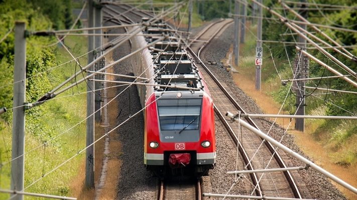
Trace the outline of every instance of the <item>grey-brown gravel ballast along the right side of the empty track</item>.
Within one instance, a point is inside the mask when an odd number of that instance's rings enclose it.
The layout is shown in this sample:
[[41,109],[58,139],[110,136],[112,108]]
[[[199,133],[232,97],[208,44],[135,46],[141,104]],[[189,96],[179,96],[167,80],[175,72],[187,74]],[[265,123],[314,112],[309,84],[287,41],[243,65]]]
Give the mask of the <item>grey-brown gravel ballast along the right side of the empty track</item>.
[[[258,104],[250,98],[244,91],[236,86],[235,82],[232,79],[232,76],[229,72],[225,71],[222,68],[220,60],[225,57],[225,53],[228,51],[232,41],[233,41],[233,27],[234,24],[231,24],[225,31],[218,37],[215,38],[201,53],[202,58],[209,58],[217,62],[217,65],[209,65],[209,69],[215,74],[215,76],[226,85],[229,85],[231,94],[235,100],[243,107],[243,109],[248,113],[263,113],[259,108]],[[272,121],[266,119],[254,119],[258,126],[265,132],[271,127]],[[216,126],[218,129],[219,124]],[[217,137],[218,137],[217,133]],[[307,157],[296,145],[294,142],[294,136],[290,134],[284,134],[284,130],[278,126],[273,125],[270,135],[276,140],[280,140],[283,137],[282,143],[295,152],[298,152],[300,155]],[[225,141],[224,141],[225,143]],[[219,144],[219,139],[217,138],[217,148]],[[289,166],[304,166],[305,164],[298,161],[295,158],[292,158],[290,155],[285,154],[281,150],[278,151],[282,157],[284,157],[285,162]],[[218,155],[217,155],[218,156]],[[235,156],[231,154],[230,156]],[[222,166],[231,169],[234,165],[231,166]],[[215,171],[215,170],[213,170]],[[215,172],[213,172],[215,173]],[[292,172],[292,175],[296,178],[296,181],[299,181],[301,186],[302,195],[305,198],[317,198],[317,199],[346,199],[343,194],[334,186],[332,183],[322,174],[316,172],[315,170],[309,168],[308,170],[300,170]],[[217,179],[210,178],[212,182],[218,181]],[[305,187],[306,185],[306,187]],[[215,187],[216,188],[216,187]],[[224,193],[226,189],[216,188],[217,193]]]

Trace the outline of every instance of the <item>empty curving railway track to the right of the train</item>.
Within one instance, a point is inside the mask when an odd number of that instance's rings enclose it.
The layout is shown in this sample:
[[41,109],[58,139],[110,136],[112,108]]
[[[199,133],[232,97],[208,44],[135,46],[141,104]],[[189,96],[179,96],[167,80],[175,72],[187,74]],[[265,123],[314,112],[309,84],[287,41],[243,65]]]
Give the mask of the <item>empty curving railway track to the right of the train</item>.
[[[231,22],[231,20],[219,20],[212,23],[208,26],[208,28],[203,29],[201,33],[198,34],[198,36],[194,39],[196,43],[193,43],[191,47],[188,47],[187,49],[191,53],[191,56],[196,60],[198,69],[201,71],[207,85],[209,85],[209,90],[212,95],[213,102],[215,103],[215,110],[218,117],[221,119],[233,140],[235,142],[239,142],[237,140],[237,133],[240,132],[239,128],[236,124],[230,125],[221,113],[225,113],[227,110],[235,113],[239,111],[241,113],[245,113],[245,111],[225,89],[227,86],[221,84],[218,79],[214,77],[199,57],[200,52],[210,42],[210,40]],[[258,128],[251,118],[246,117],[245,120]],[[262,138],[245,129],[242,130],[241,134],[241,142],[244,145],[240,144],[239,149],[246,162],[245,164],[247,164],[247,169],[253,169],[253,166],[257,169],[266,168],[266,164],[268,162],[270,162],[268,168],[286,167],[280,155],[278,153],[273,153],[274,148],[269,142],[264,142],[264,145],[261,145]],[[259,150],[257,150],[258,148]],[[274,159],[270,160],[273,154]],[[250,159],[252,159],[251,163],[248,161]],[[266,195],[275,197],[301,198],[299,189],[289,171],[265,173],[264,175],[263,173],[253,173],[251,174],[251,179],[253,184],[256,185],[256,188],[252,191],[251,195],[256,193],[258,196]]]

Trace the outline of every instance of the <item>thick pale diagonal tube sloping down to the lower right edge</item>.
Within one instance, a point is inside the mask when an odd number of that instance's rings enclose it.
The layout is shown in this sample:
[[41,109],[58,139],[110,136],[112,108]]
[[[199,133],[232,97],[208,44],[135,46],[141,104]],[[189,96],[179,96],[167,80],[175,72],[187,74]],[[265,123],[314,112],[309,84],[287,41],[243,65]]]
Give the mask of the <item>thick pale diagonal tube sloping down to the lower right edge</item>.
[[304,156],[300,155],[299,153],[293,151],[292,149],[286,147],[284,144],[280,143],[279,141],[275,140],[274,138],[270,137],[266,133],[262,132],[261,130],[258,130],[248,122],[246,122],[243,119],[236,118],[234,114],[227,112],[225,114],[231,119],[234,119],[235,121],[239,121],[242,126],[246,127],[247,129],[251,130],[253,133],[257,134],[258,136],[262,137],[263,139],[269,141],[272,143],[274,146],[278,147],[279,149],[283,150],[284,152],[290,154],[291,156],[295,157],[296,159],[304,162],[307,164],[309,167],[315,169],[316,171],[322,173],[323,175],[331,178],[333,181],[337,182],[338,184],[342,185],[343,187],[347,188],[348,190],[352,191],[353,193],[357,194],[357,188],[353,187],[352,185],[348,184],[347,182],[343,181],[342,179],[338,178],[337,176],[333,175],[332,173],[326,171],[324,168],[318,166],[314,162],[306,159]]

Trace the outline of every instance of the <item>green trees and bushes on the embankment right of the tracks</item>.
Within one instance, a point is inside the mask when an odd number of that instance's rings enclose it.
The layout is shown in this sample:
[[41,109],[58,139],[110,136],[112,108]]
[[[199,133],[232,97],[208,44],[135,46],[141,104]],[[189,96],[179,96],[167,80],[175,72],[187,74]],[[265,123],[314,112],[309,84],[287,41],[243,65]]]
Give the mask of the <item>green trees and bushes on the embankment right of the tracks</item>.
[[[356,6],[357,3],[354,0],[314,0],[316,3],[324,3],[324,4],[336,4],[336,5],[349,5]],[[281,7],[277,0],[266,1],[265,4],[269,7]],[[311,8],[317,8],[315,6],[310,6]],[[264,15],[266,17],[273,17],[269,12],[264,11]],[[294,19],[295,15],[291,12],[287,12],[284,10],[278,10],[281,15],[286,16],[289,19]],[[312,23],[318,24],[326,24],[335,27],[343,27],[349,29],[357,29],[357,11],[355,9],[341,9],[341,10],[323,10],[320,8],[316,11],[309,11],[308,18]],[[337,42],[343,43],[344,45],[354,45],[357,42],[357,33],[352,33],[348,31],[337,30],[333,28],[323,28],[321,27],[325,33],[327,33],[331,38],[336,39]],[[274,31],[266,31],[266,30],[274,30]],[[314,31],[308,27],[309,31]],[[291,33],[287,27],[281,23],[280,21],[272,21],[269,19],[263,20],[263,39],[264,40],[283,40],[283,41],[297,41],[297,36],[286,35],[284,33]],[[316,33],[316,36],[321,39],[328,41],[321,34]],[[332,42],[329,42],[332,44]],[[271,49],[273,56],[277,59],[275,62],[285,62],[287,63],[286,54],[290,60],[294,59],[295,56],[295,45],[292,46],[284,46],[281,44],[273,45],[268,44]],[[334,45],[334,44],[332,44]],[[286,48],[286,49],[285,49]],[[357,64],[346,58],[343,55],[338,54],[332,49],[326,49],[330,54],[339,59],[342,63],[348,66],[351,70],[357,71]],[[287,53],[286,53],[286,52]],[[326,63],[327,65],[333,67],[335,70],[341,72],[342,74],[346,74],[346,71],[338,66],[336,63],[331,61],[327,56],[321,53],[318,50],[310,50],[309,53]],[[352,54],[357,53],[357,48],[349,49]],[[267,62],[265,62],[267,63]],[[282,70],[290,69],[288,64],[282,64]],[[273,65],[265,65],[264,67],[268,68],[267,71],[272,71]],[[329,70],[322,67],[320,64],[312,61],[310,59],[310,69],[309,76],[310,77],[321,77],[321,76],[331,76],[335,75]],[[264,77],[264,76],[262,76]],[[288,77],[292,79],[292,73]],[[354,79],[355,78],[351,78]],[[264,79],[263,81],[280,81],[278,77],[270,76],[268,79]],[[288,85],[287,85],[288,86]],[[285,86],[285,87],[287,87]],[[326,79],[316,79],[310,80],[307,82],[307,86],[312,87],[321,87],[328,89],[339,89],[339,90],[347,90],[347,91],[357,91],[357,89],[352,86],[350,83],[346,82],[342,78],[326,78]],[[306,114],[313,114],[316,110],[319,110],[321,114],[327,115],[356,115],[357,113],[357,96],[355,94],[341,93],[341,92],[330,92],[330,91],[321,91],[314,89],[306,89]],[[279,87],[278,90],[272,92],[273,97],[277,102],[282,103],[282,100],[285,98],[288,90],[284,87]],[[319,95],[321,93],[326,93],[323,95]],[[312,93],[312,94],[310,94]],[[293,97],[295,100],[295,97]],[[294,104],[294,103],[293,103]],[[289,109],[289,106],[284,107],[286,110]],[[350,121],[345,120],[318,120],[308,122],[313,127],[315,138],[320,140],[325,147],[330,149],[331,151],[338,152],[339,154],[343,154],[345,156],[336,156],[333,157],[333,160],[336,163],[353,163],[356,160],[357,153],[355,152],[355,147],[353,146],[353,142],[350,140],[357,138],[357,132],[355,123],[351,123]],[[312,124],[314,123],[314,124]]]

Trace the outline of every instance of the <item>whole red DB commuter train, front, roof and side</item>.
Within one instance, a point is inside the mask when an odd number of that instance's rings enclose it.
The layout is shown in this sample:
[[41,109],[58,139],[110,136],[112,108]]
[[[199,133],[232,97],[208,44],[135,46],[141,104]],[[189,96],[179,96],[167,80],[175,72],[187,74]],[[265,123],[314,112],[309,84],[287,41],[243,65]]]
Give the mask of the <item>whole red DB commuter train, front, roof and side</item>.
[[[144,33],[157,34],[158,26]],[[170,32],[165,32],[170,34]],[[156,36],[136,36],[139,48]],[[170,37],[138,53],[138,76],[155,85],[138,86],[145,106],[144,164],[159,177],[207,175],[216,162],[213,102],[195,63]]]

